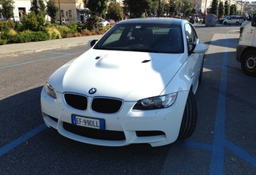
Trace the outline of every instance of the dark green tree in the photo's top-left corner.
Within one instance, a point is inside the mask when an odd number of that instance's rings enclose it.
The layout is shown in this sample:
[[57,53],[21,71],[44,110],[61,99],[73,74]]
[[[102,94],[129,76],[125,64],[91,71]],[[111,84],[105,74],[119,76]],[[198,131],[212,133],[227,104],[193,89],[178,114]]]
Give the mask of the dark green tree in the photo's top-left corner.
[[0,5],[2,7],[0,8],[2,16],[6,18],[6,20],[9,20],[9,18],[13,17],[13,6],[14,2],[13,0],[0,0]]

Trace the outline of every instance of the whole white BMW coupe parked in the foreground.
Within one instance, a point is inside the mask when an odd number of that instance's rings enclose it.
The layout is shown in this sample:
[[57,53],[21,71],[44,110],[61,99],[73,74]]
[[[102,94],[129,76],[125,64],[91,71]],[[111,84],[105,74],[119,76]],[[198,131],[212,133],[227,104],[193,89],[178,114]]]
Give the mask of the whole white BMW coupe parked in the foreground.
[[187,20],[122,20],[52,74],[41,91],[48,127],[82,143],[152,147],[192,135],[207,47]]

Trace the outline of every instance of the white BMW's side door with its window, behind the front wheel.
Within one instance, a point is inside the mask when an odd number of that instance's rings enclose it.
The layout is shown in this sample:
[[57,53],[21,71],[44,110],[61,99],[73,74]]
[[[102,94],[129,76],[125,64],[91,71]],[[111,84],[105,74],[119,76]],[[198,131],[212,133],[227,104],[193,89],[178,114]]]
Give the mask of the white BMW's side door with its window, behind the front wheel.
[[192,27],[190,24],[186,24],[185,31],[188,48],[187,71],[189,78],[192,80],[193,88],[196,89],[198,87],[198,77],[201,73],[203,54],[193,53],[195,45],[200,43],[194,27]]

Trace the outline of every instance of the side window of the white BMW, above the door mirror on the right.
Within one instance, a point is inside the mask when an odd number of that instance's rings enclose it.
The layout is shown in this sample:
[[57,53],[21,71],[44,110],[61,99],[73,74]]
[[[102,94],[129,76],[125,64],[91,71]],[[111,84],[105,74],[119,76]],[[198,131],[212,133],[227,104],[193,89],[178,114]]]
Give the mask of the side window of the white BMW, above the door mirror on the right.
[[194,49],[194,45],[198,42],[198,35],[190,24],[185,25],[185,31],[187,47],[189,52],[191,52]]

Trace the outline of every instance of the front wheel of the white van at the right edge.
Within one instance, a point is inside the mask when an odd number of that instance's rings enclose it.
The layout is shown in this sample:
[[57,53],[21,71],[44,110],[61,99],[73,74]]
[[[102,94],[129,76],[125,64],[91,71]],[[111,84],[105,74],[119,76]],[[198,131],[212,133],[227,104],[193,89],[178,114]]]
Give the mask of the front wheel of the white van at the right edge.
[[243,54],[241,68],[247,76],[256,76],[256,50],[247,50]]

